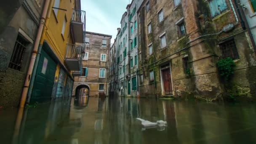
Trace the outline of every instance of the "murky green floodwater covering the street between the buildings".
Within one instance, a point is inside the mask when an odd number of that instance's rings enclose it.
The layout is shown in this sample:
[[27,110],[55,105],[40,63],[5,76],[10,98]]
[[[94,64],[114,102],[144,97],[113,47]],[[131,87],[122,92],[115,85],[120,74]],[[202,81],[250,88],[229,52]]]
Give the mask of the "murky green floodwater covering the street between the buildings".
[[249,144],[255,133],[255,104],[82,97],[0,111],[2,144]]

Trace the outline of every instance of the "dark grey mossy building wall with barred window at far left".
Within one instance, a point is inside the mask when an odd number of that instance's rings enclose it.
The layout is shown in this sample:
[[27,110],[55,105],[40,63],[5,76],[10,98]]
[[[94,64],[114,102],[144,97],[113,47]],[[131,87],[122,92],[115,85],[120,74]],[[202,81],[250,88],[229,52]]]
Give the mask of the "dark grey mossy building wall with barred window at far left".
[[45,0],[1,1],[0,105],[17,107]]

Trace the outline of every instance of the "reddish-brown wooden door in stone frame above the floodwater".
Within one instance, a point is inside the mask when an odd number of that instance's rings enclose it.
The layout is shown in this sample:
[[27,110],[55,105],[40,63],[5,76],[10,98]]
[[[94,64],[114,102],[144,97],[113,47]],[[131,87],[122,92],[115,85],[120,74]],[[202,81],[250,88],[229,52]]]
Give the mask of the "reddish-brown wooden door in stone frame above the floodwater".
[[170,69],[164,69],[162,73],[165,94],[172,94],[171,71]]

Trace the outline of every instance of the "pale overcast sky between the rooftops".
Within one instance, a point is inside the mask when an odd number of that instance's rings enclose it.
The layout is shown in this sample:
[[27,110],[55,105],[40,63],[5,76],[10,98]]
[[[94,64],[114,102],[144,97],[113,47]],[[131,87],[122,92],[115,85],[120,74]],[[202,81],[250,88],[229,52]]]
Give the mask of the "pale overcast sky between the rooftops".
[[81,9],[86,11],[86,31],[112,35],[113,43],[128,3],[129,0],[81,0]]

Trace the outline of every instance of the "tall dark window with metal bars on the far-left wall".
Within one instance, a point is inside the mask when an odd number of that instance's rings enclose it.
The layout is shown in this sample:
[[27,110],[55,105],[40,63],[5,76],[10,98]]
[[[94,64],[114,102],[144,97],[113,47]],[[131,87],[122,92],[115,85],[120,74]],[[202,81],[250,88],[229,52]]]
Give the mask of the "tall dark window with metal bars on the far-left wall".
[[13,54],[11,56],[11,61],[9,68],[21,70],[21,64],[24,58],[24,53],[26,51],[26,46],[29,44],[21,35],[18,35],[16,43],[13,48]]

